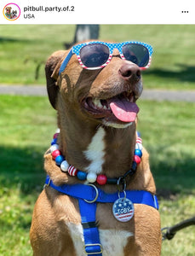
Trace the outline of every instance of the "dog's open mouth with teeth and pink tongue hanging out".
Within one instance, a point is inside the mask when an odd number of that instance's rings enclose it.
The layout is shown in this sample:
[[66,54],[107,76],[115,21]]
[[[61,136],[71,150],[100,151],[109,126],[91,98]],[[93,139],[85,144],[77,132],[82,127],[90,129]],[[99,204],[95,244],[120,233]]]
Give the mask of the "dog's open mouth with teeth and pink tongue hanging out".
[[124,91],[108,99],[86,97],[82,101],[83,108],[95,119],[106,119],[115,123],[134,122],[139,112],[134,91]]

